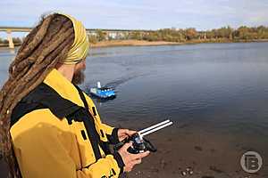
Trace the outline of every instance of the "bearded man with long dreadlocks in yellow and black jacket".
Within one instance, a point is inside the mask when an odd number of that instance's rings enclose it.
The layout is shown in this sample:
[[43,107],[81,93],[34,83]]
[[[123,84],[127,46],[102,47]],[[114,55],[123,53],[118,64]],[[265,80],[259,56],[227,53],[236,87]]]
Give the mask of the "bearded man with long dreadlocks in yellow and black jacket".
[[135,132],[103,124],[76,85],[87,53],[86,29],[65,14],[47,15],[25,38],[0,93],[0,149],[10,177],[118,177],[147,157],[130,154],[131,143],[108,149]]

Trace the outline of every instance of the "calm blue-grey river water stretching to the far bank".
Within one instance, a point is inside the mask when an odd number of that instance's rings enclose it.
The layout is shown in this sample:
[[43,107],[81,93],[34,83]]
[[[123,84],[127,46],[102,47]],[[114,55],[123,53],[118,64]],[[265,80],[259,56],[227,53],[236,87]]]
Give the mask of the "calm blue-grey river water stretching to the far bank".
[[[14,55],[0,51],[0,85]],[[112,125],[138,129],[170,118],[176,129],[189,125],[268,149],[268,43],[94,48],[85,72],[85,91],[97,81],[115,88],[114,100],[94,99]]]

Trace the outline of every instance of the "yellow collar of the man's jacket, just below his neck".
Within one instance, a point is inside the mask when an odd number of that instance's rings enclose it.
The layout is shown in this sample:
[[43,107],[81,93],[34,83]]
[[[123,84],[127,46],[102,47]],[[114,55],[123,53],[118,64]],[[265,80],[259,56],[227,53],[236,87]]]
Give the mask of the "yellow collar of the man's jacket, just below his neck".
[[57,69],[53,69],[43,82],[52,87],[64,99],[72,101],[79,106],[84,106],[76,87],[66,77],[63,77]]

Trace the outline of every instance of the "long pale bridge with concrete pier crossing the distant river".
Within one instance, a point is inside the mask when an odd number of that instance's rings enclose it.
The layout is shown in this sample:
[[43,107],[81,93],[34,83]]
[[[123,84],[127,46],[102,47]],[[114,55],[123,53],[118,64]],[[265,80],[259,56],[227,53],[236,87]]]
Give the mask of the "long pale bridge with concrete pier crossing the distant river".
[[[32,28],[29,27],[0,27],[0,31],[4,31],[7,34],[7,40],[9,43],[10,48],[14,48],[13,44],[13,32],[30,32]],[[96,35],[98,30],[101,30],[104,32],[105,36],[123,36],[126,34],[130,34],[131,32],[142,32],[142,33],[148,33],[152,32],[153,30],[147,30],[147,29],[101,29],[101,28],[87,28],[88,35]]]

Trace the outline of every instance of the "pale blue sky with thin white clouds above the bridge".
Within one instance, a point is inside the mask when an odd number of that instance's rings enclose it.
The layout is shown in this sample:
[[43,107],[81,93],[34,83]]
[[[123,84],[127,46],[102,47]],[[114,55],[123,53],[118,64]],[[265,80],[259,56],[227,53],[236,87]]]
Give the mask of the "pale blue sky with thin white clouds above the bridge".
[[268,26],[268,0],[2,0],[0,26],[34,27],[49,12],[69,13],[86,28]]

